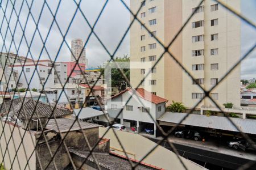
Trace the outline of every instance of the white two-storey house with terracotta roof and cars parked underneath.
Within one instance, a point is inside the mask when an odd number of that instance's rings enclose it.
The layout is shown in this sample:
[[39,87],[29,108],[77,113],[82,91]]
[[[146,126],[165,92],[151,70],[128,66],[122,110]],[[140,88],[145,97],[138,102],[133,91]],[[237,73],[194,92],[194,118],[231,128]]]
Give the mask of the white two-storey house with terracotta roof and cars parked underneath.
[[150,126],[154,129],[154,136],[156,136],[155,122],[165,112],[167,101],[143,88],[136,90],[127,88],[110,99],[106,99],[105,108],[109,117],[117,117],[121,124],[128,127],[137,126],[138,133]]

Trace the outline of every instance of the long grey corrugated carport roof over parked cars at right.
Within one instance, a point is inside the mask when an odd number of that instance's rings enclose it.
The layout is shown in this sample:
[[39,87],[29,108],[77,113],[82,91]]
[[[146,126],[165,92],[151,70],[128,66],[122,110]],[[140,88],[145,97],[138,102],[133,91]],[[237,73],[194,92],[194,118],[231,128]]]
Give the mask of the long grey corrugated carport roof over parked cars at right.
[[[172,113],[166,112],[160,118],[159,121],[171,122],[177,124],[187,114],[186,113]],[[233,118],[230,119],[240,128],[243,133],[256,134],[256,120]],[[212,128],[228,131],[239,131],[226,117],[221,116],[205,116],[200,114],[189,114],[187,118],[182,122],[182,125],[198,126],[203,128]]]

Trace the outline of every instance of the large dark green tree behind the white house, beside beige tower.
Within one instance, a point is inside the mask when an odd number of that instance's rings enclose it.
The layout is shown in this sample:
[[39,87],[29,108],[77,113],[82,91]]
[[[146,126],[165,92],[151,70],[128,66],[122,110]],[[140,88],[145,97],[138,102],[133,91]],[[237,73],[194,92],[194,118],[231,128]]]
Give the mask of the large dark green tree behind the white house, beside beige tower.
[[[124,55],[122,58],[115,57],[114,62],[130,62],[130,58]],[[123,77],[121,70],[125,74]],[[104,68],[101,68],[102,75],[104,75]],[[129,86],[127,80],[130,80],[130,69],[112,69],[111,70],[111,83],[113,87],[117,87],[119,91],[125,90]]]

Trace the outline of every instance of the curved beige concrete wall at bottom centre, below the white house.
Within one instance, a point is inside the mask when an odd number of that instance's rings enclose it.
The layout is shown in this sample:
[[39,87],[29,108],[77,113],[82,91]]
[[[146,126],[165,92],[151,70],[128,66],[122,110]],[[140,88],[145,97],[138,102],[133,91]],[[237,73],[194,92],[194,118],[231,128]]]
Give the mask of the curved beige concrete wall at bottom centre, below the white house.
[[[102,134],[104,134],[106,128],[100,127],[99,130],[101,137]],[[125,147],[129,158],[132,159],[141,160],[143,156],[146,155],[147,152],[156,145],[156,143],[138,134],[118,130],[115,132],[121,140],[123,147]],[[109,130],[104,138],[110,139],[110,149],[112,152],[125,156],[112,130]],[[200,165],[191,162],[190,160],[182,157],[180,158],[189,169],[205,169]],[[156,147],[156,149],[150,155],[148,155],[147,158],[143,160],[143,162],[155,165],[163,169],[184,169],[175,153],[167,150],[162,146]]]

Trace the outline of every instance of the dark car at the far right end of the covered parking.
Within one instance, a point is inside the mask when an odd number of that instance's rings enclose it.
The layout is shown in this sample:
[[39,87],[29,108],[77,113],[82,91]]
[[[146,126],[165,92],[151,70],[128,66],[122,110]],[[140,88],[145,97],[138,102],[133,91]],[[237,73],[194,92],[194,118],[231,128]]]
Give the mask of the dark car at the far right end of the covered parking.
[[241,148],[242,150],[256,150],[256,145],[254,143],[250,143],[249,141],[246,141],[245,139],[241,139],[236,141],[230,141],[228,142],[228,146],[234,148],[237,150],[238,148]]

